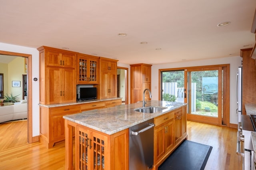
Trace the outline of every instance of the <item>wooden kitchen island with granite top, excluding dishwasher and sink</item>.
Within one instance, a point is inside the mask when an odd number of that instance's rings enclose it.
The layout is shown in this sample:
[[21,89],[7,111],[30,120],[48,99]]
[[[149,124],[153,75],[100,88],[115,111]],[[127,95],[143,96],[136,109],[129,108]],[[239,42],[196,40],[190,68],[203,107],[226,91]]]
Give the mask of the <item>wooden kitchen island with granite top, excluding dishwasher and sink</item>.
[[[156,113],[134,111],[142,103],[119,105],[116,107],[84,111],[66,115],[65,142],[66,168],[73,169],[73,130],[75,131],[76,169],[115,170],[129,169],[129,128],[144,121],[154,119],[154,167],[157,168],[166,156],[187,137],[186,103],[168,101],[148,101],[145,107],[164,108]],[[170,128],[166,128],[170,126]],[[162,127],[165,129],[159,130]],[[165,139],[169,129],[171,137]],[[160,132],[160,133],[158,133]],[[161,136],[162,135],[162,136]],[[161,136],[161,139],[158,138]],[[170,147],[166,147],[170,144]]]

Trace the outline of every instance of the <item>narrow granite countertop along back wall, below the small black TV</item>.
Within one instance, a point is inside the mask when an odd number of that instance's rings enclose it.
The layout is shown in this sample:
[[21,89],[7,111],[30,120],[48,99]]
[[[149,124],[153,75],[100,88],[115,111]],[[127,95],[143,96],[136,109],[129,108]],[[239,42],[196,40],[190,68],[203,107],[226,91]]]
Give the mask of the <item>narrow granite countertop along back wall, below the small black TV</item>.
[[93,99],[93,100],[85,100],[85,101],[76,101],[76,102],[70,102],[70,103],[58,103],[58,104],[52,104],[52,105],[42,105],[42,104],[38,104],[39,106],[42,107],[47,107],[47,108],[51,108],[51,107],[61,107],[61,106],[70,106],[70,105],[79,105],[79,104],[84,104],[84,103],[95,103],[95,102],[100,102],[100,101],[108,101],[108,100],[115,100],[115,99],[122,99],[121,97],[117,97],[117,98],[110,98],[110,99]]

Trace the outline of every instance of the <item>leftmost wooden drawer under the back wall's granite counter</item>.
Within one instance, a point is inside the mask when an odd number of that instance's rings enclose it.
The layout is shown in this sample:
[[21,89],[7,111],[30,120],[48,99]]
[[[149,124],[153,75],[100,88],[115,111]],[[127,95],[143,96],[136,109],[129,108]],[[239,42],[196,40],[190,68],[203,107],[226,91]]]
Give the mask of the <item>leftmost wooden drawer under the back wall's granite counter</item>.
[[79,113],[79,112],[80,112],[79,105],[55,107],[50,109],[51,115],[66,115],[66,114]]

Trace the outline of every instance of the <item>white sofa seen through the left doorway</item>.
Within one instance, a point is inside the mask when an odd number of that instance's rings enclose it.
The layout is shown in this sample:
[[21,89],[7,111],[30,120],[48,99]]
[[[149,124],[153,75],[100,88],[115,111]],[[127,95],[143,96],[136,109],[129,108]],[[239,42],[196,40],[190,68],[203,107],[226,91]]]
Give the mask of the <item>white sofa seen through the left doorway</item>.
[[27,103],[24,101],[14,103],[14,105],[0,106],[0,123],[27,117]]

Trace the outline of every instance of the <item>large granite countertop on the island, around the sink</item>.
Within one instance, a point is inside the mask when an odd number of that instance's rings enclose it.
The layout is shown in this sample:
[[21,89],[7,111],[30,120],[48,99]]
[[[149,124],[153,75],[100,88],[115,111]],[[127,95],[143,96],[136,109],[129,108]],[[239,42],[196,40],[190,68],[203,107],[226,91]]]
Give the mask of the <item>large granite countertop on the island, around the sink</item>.
[[166,109],[156,113],[140,113],[134,111],[134,109],[142,107],[142,102],[140,102],[129,105],[118,105],[106,109],[84,111],[82,113],[66,115],[63,118],[106,134],[114,134],[185,105],[187,103],[148,101],[145,107],[166,107]]

